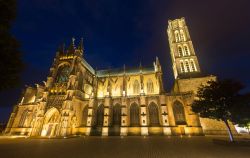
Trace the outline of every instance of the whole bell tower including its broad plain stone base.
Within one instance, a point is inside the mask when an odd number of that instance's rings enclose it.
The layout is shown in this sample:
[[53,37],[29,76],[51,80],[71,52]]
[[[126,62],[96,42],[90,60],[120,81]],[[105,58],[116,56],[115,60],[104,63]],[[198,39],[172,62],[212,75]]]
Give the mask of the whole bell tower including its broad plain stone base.
[[201,73],[184,18],[169,20],[167,34],[175,78],[173,93],[196,93],[202,84],[216,80],[216,76]]

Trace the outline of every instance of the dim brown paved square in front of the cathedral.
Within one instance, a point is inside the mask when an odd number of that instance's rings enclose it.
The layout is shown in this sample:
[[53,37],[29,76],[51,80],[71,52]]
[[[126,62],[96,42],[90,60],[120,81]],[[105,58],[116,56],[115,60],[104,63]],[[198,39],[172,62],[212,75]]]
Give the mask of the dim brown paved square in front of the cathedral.
[[226,137],[0,139],[0,158],[250,158],[249,144]]

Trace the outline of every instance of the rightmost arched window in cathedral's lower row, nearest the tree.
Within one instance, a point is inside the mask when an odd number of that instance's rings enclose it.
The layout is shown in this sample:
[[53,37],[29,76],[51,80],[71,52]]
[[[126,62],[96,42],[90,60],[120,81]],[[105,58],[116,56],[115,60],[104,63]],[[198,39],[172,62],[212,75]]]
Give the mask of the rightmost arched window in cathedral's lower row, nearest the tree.
[[176,101],[173,105],[174,119],[176,125],[186,124],[186,117],[183,105]]

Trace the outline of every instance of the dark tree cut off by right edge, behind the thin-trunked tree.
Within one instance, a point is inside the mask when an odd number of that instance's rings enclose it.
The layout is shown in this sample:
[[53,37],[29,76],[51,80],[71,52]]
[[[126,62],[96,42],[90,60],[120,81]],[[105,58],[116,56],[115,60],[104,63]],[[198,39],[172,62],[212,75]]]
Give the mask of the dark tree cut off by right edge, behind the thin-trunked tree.
[[250,93],[239,96],[238,100],[240,104],[232,110],[232,121],[239,127],[247,128],[250,134]]

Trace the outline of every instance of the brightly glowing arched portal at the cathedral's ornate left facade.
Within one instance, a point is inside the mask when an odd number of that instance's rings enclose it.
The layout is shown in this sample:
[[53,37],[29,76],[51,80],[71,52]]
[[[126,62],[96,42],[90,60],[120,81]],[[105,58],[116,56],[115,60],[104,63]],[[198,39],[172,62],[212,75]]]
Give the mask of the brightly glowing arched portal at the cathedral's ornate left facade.
[[48,110],[45,114],[41,136],[56,136],[59,120],[60,114],[56,108]]

